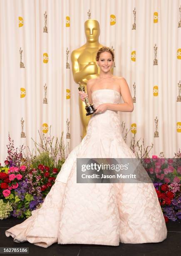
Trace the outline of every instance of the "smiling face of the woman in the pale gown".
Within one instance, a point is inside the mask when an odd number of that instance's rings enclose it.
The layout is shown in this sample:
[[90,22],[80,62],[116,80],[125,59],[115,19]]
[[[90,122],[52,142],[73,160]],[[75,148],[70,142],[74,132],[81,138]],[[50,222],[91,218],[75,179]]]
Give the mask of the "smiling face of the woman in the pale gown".
[[107,51],[102,52],[99,56],[99,61],[97,61],[97,64],[99,65],[100,70],[105,73],[109,72],[113,67],[112,54]]

